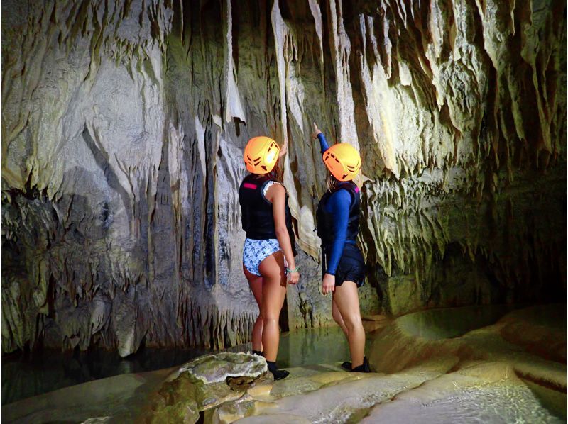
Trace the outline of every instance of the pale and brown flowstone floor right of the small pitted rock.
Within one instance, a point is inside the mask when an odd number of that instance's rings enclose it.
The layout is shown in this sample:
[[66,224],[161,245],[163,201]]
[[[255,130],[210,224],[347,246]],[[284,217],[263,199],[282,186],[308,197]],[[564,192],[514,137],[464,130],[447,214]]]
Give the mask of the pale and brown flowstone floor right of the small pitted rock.
[[[540,325],[540,340],[565,340],[558,326],[566,306],[510,313],[502,307],[501,315],[491,307],[439,312],[413,313],[369,333],[371,374],[339,364],[290,368],[286,379],[258,384],[206,417],[212,423],[564,422],[559,345],[557,359],[547,360],[528,343],[536,333],[523,329]],[[503,340],[507,328],[521,330],[515,344]]]

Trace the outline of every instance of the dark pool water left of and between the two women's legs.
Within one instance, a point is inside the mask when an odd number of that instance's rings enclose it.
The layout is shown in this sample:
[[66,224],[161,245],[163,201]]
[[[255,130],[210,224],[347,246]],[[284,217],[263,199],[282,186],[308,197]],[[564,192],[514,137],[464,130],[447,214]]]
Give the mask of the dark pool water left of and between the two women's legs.
[[[229,349],[246,352],[251,345]],[[154,371],[181,365],[191,359],[213,352],[205,349],[143,348],[136,354],[121,358],[116,352],[38,352],[33,355],[2,357],[2,404],[37,396],[67,386],[104,379],[119,374]],[[317,328],[284,333],[280,337],[278,365],[297,367],[349,359],[349,347],[339,328]]]

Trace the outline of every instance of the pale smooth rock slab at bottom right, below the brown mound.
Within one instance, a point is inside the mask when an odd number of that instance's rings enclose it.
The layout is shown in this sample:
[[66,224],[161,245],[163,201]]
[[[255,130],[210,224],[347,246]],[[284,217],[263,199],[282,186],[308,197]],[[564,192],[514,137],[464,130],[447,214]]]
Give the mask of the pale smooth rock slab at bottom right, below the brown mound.
[[[565,396],[564,396],[565,399]],[[361,423],[562,423],[506,363],[480,363],[379,403]]]

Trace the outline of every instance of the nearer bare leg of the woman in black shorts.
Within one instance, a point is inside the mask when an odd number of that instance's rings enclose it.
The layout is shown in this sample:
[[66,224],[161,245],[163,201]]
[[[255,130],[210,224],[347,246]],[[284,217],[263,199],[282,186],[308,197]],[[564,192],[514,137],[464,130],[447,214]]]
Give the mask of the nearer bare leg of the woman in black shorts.
[[359,311],[356,284],[353,281],[344,281],[341,286],[335,286],[334,301],[347,328],[352,367],[359,367],[363,364],[365,355],[365,330]]

